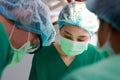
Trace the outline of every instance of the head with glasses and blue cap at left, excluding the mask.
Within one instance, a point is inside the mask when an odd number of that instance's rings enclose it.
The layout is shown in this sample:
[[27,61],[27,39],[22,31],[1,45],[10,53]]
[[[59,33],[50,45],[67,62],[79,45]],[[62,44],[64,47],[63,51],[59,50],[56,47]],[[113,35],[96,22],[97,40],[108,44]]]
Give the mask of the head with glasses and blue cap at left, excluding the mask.
[[49,8],[40,0],[0,0],[0,21],[14,48],[48,46],[54,41]]

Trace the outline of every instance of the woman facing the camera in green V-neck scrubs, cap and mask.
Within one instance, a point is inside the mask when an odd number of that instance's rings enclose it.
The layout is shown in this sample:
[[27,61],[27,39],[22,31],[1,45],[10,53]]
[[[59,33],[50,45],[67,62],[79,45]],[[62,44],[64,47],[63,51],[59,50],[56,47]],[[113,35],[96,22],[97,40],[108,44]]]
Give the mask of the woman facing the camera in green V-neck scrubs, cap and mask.
[[84,2],[67,4],[59,14],[58,24],[60,40],[37,51],[29,80],[57,80],[65,73],[102,59],[89,44],[99,21]]

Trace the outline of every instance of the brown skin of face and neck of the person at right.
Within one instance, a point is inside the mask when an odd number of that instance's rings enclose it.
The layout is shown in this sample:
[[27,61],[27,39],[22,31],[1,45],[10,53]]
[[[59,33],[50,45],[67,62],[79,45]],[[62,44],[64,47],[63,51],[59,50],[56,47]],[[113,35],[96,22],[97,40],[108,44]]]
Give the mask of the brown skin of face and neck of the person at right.
[[120,53],[120,31],[112,28],[113,26],[106,21],[103,21],[100,19],[100,27],[98,29],[98,41],[100,43],[100,47],[102,47],[108,39],[108,36],[110,34],[110,45],[112,49],[115,51],[115,53]]

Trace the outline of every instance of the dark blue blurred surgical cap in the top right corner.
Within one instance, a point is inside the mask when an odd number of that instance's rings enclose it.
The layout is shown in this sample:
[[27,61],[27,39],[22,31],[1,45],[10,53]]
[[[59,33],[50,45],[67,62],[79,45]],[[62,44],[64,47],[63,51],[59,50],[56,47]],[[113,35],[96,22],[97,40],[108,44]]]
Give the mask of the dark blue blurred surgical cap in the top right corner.
[[120,30],[120,0],[87,0],[86,5],[99,18]]

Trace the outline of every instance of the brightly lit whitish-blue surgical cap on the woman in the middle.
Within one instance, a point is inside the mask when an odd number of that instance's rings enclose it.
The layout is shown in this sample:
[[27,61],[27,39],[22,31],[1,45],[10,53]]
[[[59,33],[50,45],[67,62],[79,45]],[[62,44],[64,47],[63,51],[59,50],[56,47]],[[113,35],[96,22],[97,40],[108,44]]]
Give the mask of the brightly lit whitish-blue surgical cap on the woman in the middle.
[[64,25],[74,25],[85,29],[92,36],[99,27],[99,20],[91,13],[84,2],[72,2],[67,4],[59,14],[59,28]]

